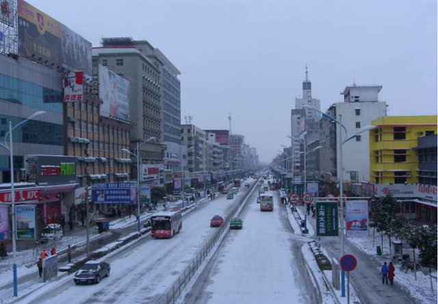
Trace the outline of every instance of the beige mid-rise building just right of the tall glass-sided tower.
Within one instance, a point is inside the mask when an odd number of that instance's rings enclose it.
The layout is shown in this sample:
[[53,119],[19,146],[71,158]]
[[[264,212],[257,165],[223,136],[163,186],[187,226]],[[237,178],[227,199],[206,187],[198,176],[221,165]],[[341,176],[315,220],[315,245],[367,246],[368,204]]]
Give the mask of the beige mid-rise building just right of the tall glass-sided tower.
[[184,170],[201,172],[206,170],[205,142],[207,133],[196,125],[181,125],[181,142],[183,146],[194,149],[187,152],[187,167]]

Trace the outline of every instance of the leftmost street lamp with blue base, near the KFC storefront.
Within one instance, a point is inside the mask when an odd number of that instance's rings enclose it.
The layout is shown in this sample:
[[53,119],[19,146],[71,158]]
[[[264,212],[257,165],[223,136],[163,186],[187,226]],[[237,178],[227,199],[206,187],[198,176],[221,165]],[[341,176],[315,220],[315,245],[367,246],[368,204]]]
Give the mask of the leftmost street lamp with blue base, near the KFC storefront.
[[[18,281],[17,281],[17,274],[16,274],[16,214],[15,214],[15,192],[14,192],[14,150],[12,147],[12,131],[16,129],[16,127],[19,127],[21,125],[24,125],[32,118],[35,118],[36,116],[39,116],[41,114],[46,113],[45,111],[38,111],[34,114],[31,114],[29,118],[25,119],[21,123],[18,123],[15,127],[12,127],[12,122],[9,122],[9,131],[5,135],[5,144],[0,144],[0,147],[5,148],[9,151],[10,155],[10,170],[11,170],[11,212],[12,212],[12,259],[13,259],[13,268],[14,268],[14,296],[18,296]],[[6,142],[6,138],[8,138],[9,135],[9,146]]]

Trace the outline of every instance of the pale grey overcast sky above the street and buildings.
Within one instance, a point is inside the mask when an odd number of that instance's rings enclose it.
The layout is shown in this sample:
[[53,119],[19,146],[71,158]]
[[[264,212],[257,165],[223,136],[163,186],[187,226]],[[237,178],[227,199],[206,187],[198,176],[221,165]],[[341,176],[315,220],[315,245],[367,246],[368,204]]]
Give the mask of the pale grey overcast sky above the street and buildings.
[[290,133],[305,64],[322,110],[381,84],[389,115],[437,114],[437,1],[27,0],[99,46],[131,36],[181,71],[181,123],[245,136],[270,162]]

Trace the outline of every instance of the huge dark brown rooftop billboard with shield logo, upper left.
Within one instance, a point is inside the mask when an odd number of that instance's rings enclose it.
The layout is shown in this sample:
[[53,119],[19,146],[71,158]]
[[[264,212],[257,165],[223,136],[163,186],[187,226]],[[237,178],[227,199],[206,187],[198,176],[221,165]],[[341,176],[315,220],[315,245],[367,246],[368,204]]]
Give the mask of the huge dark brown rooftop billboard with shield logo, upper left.
[[18,55],[92,76],[91,42],[26,1],[18,0]]

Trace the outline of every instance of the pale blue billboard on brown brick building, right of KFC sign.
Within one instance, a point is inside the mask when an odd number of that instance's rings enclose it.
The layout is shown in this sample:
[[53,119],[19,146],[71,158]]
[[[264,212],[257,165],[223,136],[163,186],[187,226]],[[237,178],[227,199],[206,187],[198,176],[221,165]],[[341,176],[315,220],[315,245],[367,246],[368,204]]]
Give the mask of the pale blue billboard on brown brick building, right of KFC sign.
[[129,121],[129,81],[100,64],[98,73],[99,98],[103,100],[101,115]]

